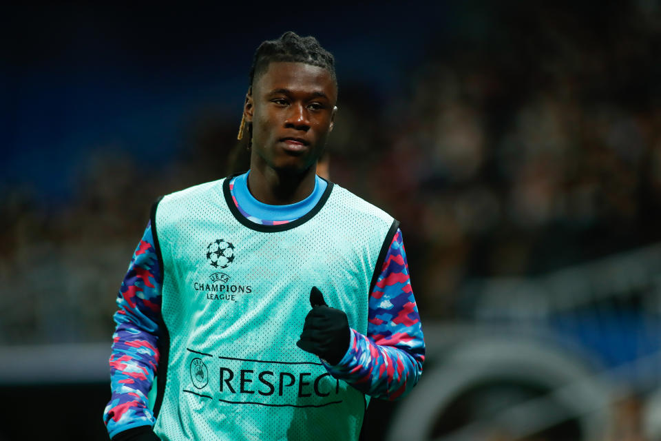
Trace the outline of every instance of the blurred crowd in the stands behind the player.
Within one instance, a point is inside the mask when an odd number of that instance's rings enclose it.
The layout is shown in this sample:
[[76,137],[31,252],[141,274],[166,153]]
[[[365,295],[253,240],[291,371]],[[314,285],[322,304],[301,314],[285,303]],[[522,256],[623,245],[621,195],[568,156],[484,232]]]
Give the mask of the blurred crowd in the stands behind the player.
[[[661,28],[640,5],[501,12],[489,32],[421,42],[392,94],[339,79],[330,179],[401,220],[423,318],[453,318],[471,277],[660,240]],[[201,111],[158,169],[90,147],[65,206],[5,185],[0,343],[107,340],[151,201],[246,170],[239,120]]]

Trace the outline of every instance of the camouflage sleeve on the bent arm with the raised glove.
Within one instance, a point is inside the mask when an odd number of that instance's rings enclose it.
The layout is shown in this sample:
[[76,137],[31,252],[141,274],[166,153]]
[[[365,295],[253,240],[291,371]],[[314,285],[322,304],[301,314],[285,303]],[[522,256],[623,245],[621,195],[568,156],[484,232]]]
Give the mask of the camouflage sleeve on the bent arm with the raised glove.
[[401,230],[392,238],[370,294],[367,335],[351,329],[349,349],[328,372],[359,391],[397,400],[418,382],[425,342],[411,289]]

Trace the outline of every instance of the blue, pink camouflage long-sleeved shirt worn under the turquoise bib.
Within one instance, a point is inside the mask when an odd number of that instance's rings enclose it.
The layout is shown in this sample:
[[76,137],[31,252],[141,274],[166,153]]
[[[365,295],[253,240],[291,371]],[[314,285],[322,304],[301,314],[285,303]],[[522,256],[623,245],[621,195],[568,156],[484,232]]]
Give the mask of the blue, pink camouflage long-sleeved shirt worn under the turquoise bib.
[[[323,190],[315,187],[315,193],[306,199],[307,204],[284,207],[280,212],[264,212],[260,211],[260,203],[255,205],[255,200],[249,199],[245,176],[231,182],[233,201],[246,218],[256,223],[273,225],[294,220],[315,205],[313,196]],[[324,185],[321,180],[317,184]],[[162,271],[154,243],[148,224],[117,297],[118,311],[114,314],[117,325],[109,362],[112,398],[104,411],[111,437],[133,427],[151,426],[155,420],[147,393],[158,367],[158,338],[163,325]],[[337,365],[324,363],[324,366],[333,377],[369,396],[395,400],[415,386],[425,359],[423,333],[399,229],[378,270],[379,278],[370,293],[366,334],[351,329],[344,358]]]

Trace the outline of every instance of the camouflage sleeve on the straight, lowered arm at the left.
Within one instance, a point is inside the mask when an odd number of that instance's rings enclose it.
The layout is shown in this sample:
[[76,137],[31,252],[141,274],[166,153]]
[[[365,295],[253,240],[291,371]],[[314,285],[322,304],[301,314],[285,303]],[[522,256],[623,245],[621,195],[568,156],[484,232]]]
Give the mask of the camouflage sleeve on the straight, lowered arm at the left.
[[117,296],[110,356],[112,398],[103,412],[111,438],[127,429],[154,425],[147,393],[158,366],[161,292],[162,276],[149,223]]

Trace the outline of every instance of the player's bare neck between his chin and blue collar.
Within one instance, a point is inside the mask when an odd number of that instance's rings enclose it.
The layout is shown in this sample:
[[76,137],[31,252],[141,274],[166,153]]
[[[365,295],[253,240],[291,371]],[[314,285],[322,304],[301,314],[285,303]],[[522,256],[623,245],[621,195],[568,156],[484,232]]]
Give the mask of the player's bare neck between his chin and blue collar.
[[269,205],[289,205],[310,196],[315,189],[315,167],[303,173],[279,172],[270,167],[252,167],[248,189],[258,201]]

